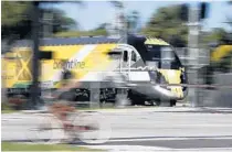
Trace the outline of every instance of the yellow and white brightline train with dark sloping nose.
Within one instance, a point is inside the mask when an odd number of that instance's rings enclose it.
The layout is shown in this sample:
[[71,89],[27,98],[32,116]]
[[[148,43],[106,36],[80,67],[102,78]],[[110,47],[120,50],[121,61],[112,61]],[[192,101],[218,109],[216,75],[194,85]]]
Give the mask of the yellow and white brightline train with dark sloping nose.
[[[187,84],[188,80],[184,67],[170,44],[138,35],[129,35],[126,42],[104,36],[41,40],[40,51],[52,52],[51,59],[41,61],[42,87],[61,87],[62,68],[66,66],[82,84],[77,91],[86,91],[91,84],[99,83],[101,100],[108,100],[107,95],[117,94],[117,85],[112,85],[112,80],[117,78],[130,84],[128,98],[136,105],[145,100],[167,100],[173,106],[186,97],[187,87],[168,86]],[[31,48],[29,41],[18,41],[2,59],[8,96],[29,95]]]

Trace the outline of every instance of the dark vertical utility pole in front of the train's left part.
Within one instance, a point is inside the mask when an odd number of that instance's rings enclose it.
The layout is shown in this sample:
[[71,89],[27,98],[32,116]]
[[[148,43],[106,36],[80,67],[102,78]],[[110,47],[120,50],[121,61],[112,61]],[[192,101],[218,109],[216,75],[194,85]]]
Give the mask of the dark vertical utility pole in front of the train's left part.
[[33,40],[33,56],[32,56],[32,88],[31,88],[31,102],[30,108],[35,109],[40,98],[39,86],[39,34],[40,34],[40,12],[39,1],[33,2],[33,15],[32,15],[32,40]]

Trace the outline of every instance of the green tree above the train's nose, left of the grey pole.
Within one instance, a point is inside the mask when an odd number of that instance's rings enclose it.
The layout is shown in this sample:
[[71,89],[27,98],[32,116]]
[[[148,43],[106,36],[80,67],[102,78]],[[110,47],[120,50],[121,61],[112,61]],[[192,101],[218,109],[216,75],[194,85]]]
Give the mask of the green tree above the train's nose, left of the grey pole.
[[[187,44],[188,28],[180,19],[180,6],[159,8],[143,29],[141,33],[149,36],[161,37],[168,42]],[[179,45],[179,44],[173,44]]]

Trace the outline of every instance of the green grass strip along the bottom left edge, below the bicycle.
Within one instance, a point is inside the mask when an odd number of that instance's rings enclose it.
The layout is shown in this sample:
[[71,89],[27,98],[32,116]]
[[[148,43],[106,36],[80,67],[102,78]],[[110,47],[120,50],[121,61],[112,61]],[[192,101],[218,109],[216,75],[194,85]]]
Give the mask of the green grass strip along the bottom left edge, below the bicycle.
[[101,151],[96,149],[87,149],[67,144],[27,144],[15,142],[2,142],[1,148],[2,151]]

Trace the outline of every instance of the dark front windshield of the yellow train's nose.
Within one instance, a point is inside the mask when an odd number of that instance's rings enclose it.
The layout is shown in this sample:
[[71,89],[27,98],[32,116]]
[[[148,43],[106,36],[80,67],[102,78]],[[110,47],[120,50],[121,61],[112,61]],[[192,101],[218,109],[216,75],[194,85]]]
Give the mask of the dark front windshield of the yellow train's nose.
[[169,45],[146,45],[148,63],[156,63],[158,68],[179,69],[181,63]]

